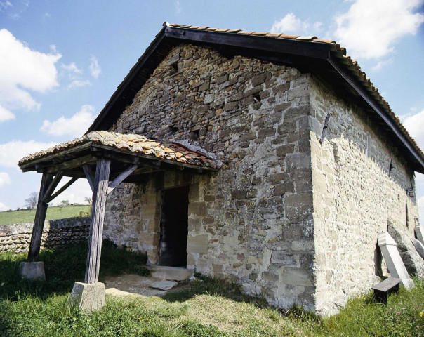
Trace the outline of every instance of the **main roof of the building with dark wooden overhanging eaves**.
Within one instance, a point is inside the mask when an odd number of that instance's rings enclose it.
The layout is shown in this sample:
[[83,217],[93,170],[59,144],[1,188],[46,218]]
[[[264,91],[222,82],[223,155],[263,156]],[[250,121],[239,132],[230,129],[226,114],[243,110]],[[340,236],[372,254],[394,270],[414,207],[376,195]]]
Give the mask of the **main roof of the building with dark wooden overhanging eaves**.
[[223,55],[242,55],[312,72],[333,84],[336,91],[350,95],[369,112],[370,119],[387,131],[399,152],[424,173],[424,154],[409,135],[387,101],[378,93],[357,62],[335,41],[279,33],[243,32],[167,22],[145,53],[131,68],[87,132],[107,130],[117,121],[135,94],[173,46],[182,43],[214,48]]

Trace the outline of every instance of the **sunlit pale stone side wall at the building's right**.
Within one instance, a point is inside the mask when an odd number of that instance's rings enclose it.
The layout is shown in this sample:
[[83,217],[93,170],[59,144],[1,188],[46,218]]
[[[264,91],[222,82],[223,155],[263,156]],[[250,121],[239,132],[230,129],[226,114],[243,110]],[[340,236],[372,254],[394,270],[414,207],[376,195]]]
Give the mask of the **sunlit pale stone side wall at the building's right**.
[[[418,208],[416,198],[405,192],[413,171],[364,111],[314,77],[310,102],[316,306],[318,313],[331,315],[387,275],[376,246],[378,233],[392,223],[413,237]],[[328,113],[329,128],[320,144]]]

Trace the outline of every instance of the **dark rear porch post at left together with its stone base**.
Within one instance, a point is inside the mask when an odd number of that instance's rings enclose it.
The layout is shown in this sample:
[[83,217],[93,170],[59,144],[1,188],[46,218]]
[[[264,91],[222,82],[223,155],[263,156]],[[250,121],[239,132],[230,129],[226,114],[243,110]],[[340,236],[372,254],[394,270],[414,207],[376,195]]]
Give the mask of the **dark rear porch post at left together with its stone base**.
[[32,227],[31,243],[29,244],[27,262],[20,263],[19,270],[22,278],[26,279],[46,279],[44,274],[44,264],[38,262],[41,238],[43,237],[44,220],[46,220],[46,212],[48,203],[44,202],[44,194],[51,185],[53,174],[43,173],[41,178],[41,186],[39,192],[39,201],[37,210],[35,211],[34,225]]

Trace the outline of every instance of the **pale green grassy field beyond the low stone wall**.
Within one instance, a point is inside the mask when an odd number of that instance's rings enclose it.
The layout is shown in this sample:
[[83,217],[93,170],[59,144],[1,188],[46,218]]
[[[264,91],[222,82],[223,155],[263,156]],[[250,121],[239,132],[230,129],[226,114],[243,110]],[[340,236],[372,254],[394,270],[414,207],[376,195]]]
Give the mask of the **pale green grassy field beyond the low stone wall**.
[[[47,209],[46,220],[66,219],[79,216],[80,213],[88,213],[90,205],[74,206],[51,206]],[[20,209],[19,211],[0,212],[0,225],[11,223],[32,223],[35,217],[35,209]]]

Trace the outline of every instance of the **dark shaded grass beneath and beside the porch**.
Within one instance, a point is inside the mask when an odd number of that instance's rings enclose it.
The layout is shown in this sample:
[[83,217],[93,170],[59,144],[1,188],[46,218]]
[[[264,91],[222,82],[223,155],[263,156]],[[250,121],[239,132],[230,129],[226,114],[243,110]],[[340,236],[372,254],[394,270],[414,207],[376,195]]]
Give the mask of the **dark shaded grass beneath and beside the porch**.
[[[74,244],[65,249],[44,249],[39,260],[44,262],[46,282],[29,282],[20,279],[19,263],[25,261],[26,253],[0,254],[0,300],[19,300],[26,296],[46,299],[53,295],[67,294],[72,291],[76,281],[83,281],[86,270],[87,244]],[[131,272],[147,276],[144,267],[145,254],[132,253],[126,249],[104,242],[100,263],[100,279],[110,275]]]

